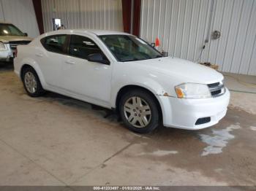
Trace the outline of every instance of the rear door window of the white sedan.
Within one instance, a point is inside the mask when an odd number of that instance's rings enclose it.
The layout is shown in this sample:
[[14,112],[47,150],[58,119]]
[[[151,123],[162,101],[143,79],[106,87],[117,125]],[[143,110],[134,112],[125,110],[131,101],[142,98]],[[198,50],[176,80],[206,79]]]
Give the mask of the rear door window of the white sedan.
[[42,45],[50,52],[66,54],[67,35],[59,34],[41,39]]

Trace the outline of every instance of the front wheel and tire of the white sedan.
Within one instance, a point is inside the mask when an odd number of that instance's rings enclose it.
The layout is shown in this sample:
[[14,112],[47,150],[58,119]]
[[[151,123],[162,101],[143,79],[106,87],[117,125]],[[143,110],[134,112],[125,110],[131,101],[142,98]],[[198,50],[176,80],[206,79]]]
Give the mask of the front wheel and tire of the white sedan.
[[156,100],[146,91],[125,93],[119,103],[119,112],[124,125],[136,133],[148,133],[159,126]]

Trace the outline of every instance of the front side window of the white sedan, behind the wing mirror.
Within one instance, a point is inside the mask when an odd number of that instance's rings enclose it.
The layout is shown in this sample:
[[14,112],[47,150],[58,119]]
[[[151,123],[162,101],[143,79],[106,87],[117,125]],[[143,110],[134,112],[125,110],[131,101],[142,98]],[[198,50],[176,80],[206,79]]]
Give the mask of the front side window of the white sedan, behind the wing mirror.
[[102,53],[97,44],[86,36],[72,35],[69,44],[69,55],[87,60],[88,55]]

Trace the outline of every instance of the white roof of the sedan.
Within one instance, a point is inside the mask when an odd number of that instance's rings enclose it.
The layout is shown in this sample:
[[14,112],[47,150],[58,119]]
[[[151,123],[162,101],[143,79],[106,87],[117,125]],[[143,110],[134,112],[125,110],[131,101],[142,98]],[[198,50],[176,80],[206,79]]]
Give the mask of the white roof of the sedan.
[[52,31],[49,34],[61,34],[63,32],[69,33],[80,33],[80,34],[95,34],[95,35],[110,35],[110,34],[123,34],[130,35],[121,31],[106,31],[106,30],[91,30],[91,29],[61,29],[59,31]]

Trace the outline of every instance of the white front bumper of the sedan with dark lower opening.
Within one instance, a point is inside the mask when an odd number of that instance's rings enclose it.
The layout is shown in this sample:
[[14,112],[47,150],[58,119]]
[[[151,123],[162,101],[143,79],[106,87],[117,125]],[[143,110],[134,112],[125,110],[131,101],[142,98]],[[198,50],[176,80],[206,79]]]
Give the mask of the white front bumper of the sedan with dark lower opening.
[[[166,127],[198,130],[217,124],[225,117],[230,101],[230,92],[217,98],[180,99],[159,96],[163,124]],[[200,118],[211,117],[210,122],[195,125]]]

